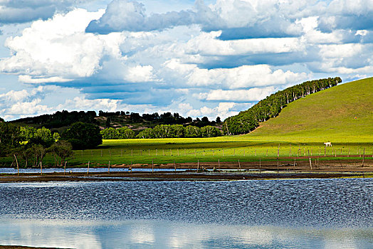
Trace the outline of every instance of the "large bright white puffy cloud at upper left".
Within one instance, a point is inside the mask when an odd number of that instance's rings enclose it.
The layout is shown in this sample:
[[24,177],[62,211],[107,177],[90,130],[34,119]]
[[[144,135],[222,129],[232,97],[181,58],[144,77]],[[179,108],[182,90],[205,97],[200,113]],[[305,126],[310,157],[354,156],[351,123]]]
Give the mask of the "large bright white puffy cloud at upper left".
[[0,71],[38,80],[93,75],[99,68],[105,41],[84,33],[84,29],[90,20],[100,15],[100,11],[90,13],[75,9],[68,14],[57,14],[48,21],[33,22],[22,36],[6,40],[6,46],[14,55],[0,60]]

